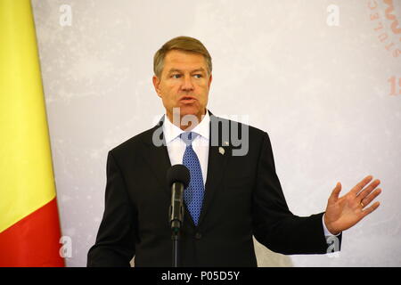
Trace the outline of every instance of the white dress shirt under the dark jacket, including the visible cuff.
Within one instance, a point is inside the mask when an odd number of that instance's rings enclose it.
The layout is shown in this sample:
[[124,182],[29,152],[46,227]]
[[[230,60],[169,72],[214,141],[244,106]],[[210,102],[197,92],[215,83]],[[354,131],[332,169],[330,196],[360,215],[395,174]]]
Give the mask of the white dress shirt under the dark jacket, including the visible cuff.
[[[191,132],[199,134],[192,141],[192,149],[195,151],[198,159],[201,163],[201,171],[203,177],[203,184],[206,183],[206,177],[208,176],[208,161],[209,161],[209,128],[210,128],[210,117],[209,111],[206,111],[206,115],[203,116],[201,123],[195,126]],[[166,140],[168,148],[168,157],[171,165],[183,164],[184,151],[186,148],[185,142],[180,138],[180,134],[184,131],[178,126],[174,125],[168,119],[168,116],[164,115],[163,134]],[[327,230],[324,224],[324,215],[322,218],[324,236],[333,235]]]

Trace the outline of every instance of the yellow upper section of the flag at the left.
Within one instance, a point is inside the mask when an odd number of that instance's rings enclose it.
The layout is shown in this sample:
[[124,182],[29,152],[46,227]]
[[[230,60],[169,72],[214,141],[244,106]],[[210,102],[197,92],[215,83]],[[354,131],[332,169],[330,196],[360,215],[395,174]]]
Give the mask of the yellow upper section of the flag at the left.
[[29,0],[0,0],[0,232],[55,197]]

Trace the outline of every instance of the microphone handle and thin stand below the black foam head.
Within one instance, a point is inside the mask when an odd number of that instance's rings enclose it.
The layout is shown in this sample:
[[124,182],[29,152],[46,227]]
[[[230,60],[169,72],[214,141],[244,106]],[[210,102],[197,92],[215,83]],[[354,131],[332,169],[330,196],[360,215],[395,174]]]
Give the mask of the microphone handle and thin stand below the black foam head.
[[173,183],[171,186],[171,207],[170,207],[170,225],[171,240],[173,240],[173,267],[180,266],[180,230],[184,221],[184,185],[183,183]]

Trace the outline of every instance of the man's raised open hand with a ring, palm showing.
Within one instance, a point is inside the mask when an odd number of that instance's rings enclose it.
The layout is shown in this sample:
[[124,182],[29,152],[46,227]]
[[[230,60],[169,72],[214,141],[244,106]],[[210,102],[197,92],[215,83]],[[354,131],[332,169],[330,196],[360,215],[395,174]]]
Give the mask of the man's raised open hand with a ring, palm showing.
[[[380,206],[380,202],[376,201],[366,208],[381,193],[381,189],[376,189],[381,181],[376,179],[370,183],[372,179],[372,175],[364,177],[360,183],[340,198],[341,183],[337,183],[331,192],[324,214],[324,224],[332,234],[349,229]],[[364,188],[367,183],[370,184]]]

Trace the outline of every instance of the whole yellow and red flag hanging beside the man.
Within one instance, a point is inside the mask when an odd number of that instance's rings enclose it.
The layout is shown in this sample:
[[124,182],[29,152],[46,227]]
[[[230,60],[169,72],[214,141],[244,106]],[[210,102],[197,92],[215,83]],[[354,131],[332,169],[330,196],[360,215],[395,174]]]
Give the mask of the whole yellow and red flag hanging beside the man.
[[64,266],[29,0],[0,0],[0,266]]

